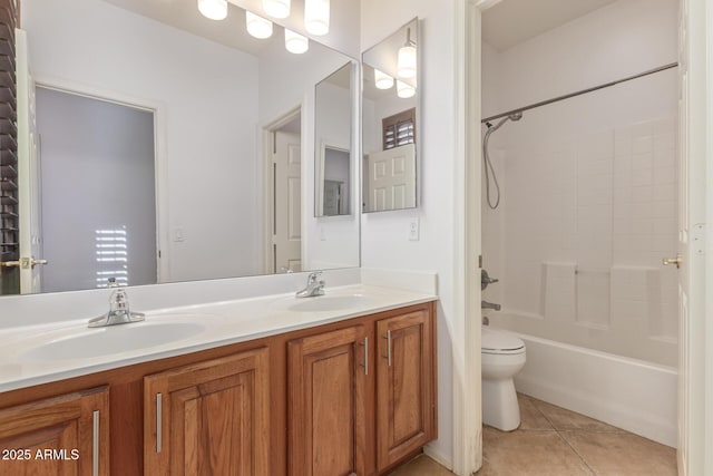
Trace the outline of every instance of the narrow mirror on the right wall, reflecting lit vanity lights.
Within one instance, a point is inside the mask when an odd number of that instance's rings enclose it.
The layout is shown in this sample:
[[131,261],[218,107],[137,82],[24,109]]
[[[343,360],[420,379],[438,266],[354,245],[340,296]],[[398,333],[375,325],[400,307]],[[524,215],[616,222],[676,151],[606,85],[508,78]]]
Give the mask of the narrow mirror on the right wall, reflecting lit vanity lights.
[[362,208],[417,204],[418,19],[362,54]]

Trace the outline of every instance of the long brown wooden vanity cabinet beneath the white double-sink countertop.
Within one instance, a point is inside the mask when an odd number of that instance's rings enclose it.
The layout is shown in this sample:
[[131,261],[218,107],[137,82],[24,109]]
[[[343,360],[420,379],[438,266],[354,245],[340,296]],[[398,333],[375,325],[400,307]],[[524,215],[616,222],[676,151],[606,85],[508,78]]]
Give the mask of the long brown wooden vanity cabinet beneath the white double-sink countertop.
[[0,450],[31,456],[0,475],[389,474],[437,436],[434,317],[427,302],[0,392]]

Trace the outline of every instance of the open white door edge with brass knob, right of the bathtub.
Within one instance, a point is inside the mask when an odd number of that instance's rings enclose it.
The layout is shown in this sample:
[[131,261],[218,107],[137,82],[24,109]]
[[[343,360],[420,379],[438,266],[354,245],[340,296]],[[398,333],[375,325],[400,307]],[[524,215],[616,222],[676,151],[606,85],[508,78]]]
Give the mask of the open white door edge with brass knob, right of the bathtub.
[[[709,12],[710,13],[710,12]],[[707,135],[711,110],[706,78],[706,8],[700,0],[681,3],[680,22],[680,358],[678,358],[678,474],[713,474],[711,460],[710,366],[706,327],[705,227]],[[710,41],[710,40],[709,40]],[[711,55],[711,52],[707,52]],[[710,58],[709,58],[710,59]],[[706,118],[707,115],[707,118]],[[710,185],[709,185],[710,186]],[[673,256],[671,256],[673,258]],[[707,332],[707,334],[706,334]],[[710,351],[709,351],[710,352]],[[710,353],[709,353],[710,356]],[[707,382],[706,382],[707,380]]]

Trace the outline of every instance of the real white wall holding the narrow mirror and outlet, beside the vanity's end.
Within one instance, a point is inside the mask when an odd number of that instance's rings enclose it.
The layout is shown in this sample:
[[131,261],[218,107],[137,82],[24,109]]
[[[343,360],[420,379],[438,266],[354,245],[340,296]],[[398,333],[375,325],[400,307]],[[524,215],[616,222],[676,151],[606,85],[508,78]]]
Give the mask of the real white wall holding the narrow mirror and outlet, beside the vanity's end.
[[[461,341],[463,317],[456,313],[455,8],[452,1],[362,0],[362,51],[378,43],[413,17],[422,19],[421,82],[421,204],[417,210],[362,216],[362,265],[433,270],[439,279],[438,401],[439,438],[431,455],[446,465],[453,454],[453,344]],[[409,241],[409,221],[420,220],[420,240]],[[459,443],[460,444],[460,443]]]

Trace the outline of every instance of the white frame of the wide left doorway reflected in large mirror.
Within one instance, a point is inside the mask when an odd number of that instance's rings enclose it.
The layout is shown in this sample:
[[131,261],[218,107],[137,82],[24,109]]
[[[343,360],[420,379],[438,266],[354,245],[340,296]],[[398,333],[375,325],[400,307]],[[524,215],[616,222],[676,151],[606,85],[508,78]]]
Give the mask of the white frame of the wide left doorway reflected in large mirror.
[[[47,75],[35,76],[35,87],[141,109],[154,115],[154,187],[156,202],[156,283],[170,280],[168,241],[168,161],[166,154],[166,105],[121,93]],[[40,153],[41,154],[41,153]]]

